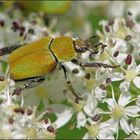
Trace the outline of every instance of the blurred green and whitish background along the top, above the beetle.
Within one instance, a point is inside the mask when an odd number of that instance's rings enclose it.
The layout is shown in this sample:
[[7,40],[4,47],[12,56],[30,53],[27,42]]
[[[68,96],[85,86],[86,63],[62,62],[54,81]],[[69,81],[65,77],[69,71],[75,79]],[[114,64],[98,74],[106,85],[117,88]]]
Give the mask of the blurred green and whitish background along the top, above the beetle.
[[138,1],[4,1],[0,9],[21,9],[27,17],[38,12],[53,31],[72,32],[74,36],[87,37],[101,30],[99,21],[132,12],[139,20]]

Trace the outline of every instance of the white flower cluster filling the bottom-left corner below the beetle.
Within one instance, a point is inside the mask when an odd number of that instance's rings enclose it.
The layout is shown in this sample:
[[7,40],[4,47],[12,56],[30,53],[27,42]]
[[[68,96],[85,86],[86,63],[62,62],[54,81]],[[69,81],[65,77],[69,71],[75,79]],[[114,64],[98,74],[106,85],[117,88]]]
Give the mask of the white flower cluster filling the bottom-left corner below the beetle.
[[37,116],[35,106],[23,107],[9,93],[9,87],[0,93],[0,138],[54,139],[55,126],[48,118],[44,118],[47,111]]

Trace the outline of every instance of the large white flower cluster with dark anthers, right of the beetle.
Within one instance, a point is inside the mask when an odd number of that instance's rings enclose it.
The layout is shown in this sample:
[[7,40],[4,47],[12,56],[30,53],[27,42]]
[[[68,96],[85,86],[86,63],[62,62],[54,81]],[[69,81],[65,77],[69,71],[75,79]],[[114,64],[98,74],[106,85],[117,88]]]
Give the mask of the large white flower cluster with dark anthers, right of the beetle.
[[87,128],[83,139],[119,139],[120,131],[125,138],[140,138],[140,24],[133,15],[100,24],[103,33],[97,31],[97,35],[106,47],[91,59],[119,67],[84,70],[83,81],[92,92],[84,94],[84,102],[71,102],[77,112],[76,127]]

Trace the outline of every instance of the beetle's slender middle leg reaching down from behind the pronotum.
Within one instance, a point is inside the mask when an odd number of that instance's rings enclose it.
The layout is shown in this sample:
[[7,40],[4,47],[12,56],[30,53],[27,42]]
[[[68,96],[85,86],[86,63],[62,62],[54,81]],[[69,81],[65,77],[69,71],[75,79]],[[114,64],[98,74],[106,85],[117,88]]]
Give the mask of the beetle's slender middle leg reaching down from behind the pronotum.
[[61,66],[61,68],[62,68],[62,70],[63,70],[63,72],[64,72],[65,79],[66,79],[66,83],[67,83],[67,85],[68,85],[70,91],[71,91],[72,94],[76,97],[75,100],[77,100],[77,99],[80,99],[80,100],[81,100],[82,98],[79,97],[79,95],[76,93],[75,89],[73,88],[73,86],[72,86],[72,84],[71,84],[71,81],[70,81],[70,79],[69,79],[69,76],[68,76],[68,73],[67,73],[66,68],[65,68],[64,65],[62,65],[62,64],[60,64],[60,66]]

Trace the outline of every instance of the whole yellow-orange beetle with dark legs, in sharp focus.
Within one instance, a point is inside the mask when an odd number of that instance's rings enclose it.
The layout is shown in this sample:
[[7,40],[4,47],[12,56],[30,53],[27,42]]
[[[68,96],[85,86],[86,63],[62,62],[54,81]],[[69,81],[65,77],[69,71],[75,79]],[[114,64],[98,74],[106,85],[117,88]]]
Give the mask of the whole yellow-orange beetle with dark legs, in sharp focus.
[[[94,47],[99,45],[103,44],[99,43]],[[13,94],[41,84],[45,77],[59,65],[59,68],[64,72],[66,83],[72,94],[76,99],[81,99],[72,86],[63,62],[71,61],[82,67],[117,67],[97,62],[84,63],[76,59],[78,53],[84,53],[87,50],[94,53],[90,49],[88,40],[82,41],[79,38],[68,36],[56,38],[47,36],[32,43],[2,48],[0,49],[0,55],[11,53],[8,61],[10,78],[15,82],[23,82],[23,85],[17,87]]]

